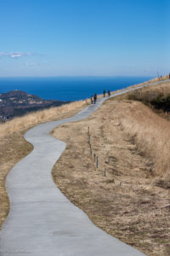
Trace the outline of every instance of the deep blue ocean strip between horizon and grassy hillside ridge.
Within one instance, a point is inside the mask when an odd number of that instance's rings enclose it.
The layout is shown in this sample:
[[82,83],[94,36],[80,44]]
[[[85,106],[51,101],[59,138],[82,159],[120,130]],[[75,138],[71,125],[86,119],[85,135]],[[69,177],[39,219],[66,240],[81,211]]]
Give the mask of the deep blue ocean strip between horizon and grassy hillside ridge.
[[0,93],[25,90],[46,100],[77,101],[103,90],[119,90],[151,77],[0,78]]

